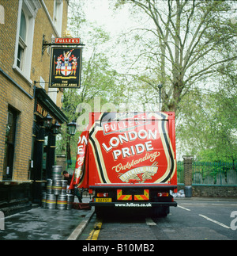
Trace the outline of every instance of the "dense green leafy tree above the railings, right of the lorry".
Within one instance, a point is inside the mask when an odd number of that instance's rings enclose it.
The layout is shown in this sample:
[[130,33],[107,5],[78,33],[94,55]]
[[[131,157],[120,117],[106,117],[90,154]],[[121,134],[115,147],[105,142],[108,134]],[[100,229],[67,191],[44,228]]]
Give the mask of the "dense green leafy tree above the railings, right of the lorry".
[[180,151],[208,162],[237,160],[237,97],[224,88],[219,92],[193,91],[177,125]]

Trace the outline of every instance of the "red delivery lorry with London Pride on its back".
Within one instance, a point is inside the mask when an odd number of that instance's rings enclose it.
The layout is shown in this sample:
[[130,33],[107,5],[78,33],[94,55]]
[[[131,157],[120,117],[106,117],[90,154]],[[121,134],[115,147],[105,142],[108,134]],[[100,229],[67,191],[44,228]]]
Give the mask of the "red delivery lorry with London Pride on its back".
[[74,185],[113,209],[167,216],[177,206],[175,113],[90,113],[77,146]]

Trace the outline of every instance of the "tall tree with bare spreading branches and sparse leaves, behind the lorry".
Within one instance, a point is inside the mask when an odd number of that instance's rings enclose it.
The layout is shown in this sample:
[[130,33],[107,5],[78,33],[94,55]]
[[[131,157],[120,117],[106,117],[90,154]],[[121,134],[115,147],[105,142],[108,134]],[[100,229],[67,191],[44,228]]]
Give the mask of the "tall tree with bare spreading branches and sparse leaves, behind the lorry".
[[130,71],[134,67],[130,74],[140,82],[138,90],[149,88],[156,100],[158,85],[163,85],[162,110],[177,111],[192,88],[236,63],[233,1],[118,0],[115,7],[125,4],[140,19],[139,29],[125,35],[125,42],[131,42],[126,63]]

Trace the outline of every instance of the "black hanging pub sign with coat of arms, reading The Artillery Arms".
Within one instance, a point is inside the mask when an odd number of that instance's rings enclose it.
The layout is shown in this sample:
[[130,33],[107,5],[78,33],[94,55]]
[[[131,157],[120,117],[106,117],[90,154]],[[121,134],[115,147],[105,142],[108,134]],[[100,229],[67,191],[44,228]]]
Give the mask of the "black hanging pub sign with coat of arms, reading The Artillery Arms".
[[80,88],[82,48],[52,48],[50,88]]

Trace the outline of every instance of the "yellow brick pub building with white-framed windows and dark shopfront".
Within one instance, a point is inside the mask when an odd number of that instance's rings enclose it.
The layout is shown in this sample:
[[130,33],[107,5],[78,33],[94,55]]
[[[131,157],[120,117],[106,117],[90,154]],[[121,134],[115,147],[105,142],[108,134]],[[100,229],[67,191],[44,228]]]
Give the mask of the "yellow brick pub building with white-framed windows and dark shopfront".
[[[0,0],[0,208],[39,201],[55,163],[62,89],[48,88],[51,48],[66,31],[69,0]],[[53,120],[46,126],[46,118]]]

